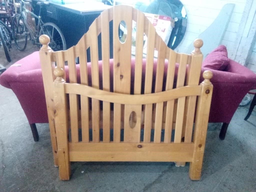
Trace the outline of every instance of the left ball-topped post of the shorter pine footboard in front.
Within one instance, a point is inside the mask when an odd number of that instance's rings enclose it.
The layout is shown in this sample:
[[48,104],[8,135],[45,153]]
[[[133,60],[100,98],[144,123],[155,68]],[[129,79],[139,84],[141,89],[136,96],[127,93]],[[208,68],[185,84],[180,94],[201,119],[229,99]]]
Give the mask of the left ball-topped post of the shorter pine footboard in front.
[[67,98],[65,94],[66,81],[62,78],[64,70],[62,68],[54,69],[56,79],[54,87],[54,104],[55,104],[55,124],[58,144],[59,173],[61,180],[70,178],[70,162],[68,151],[68,114]]

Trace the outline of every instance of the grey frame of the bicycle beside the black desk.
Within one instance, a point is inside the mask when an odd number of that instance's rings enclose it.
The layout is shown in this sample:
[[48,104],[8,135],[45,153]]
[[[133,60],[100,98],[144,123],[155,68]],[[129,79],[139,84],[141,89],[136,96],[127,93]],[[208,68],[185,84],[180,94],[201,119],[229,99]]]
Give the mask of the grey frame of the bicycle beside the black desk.
[[[20,1],[20,14],[23,16],[24,18],[24,22],[25,22],[25,26],[26,28],[28,29],[28,32],[30,34],[30,37],[31,37],[31,40],[33,42],[33,44],[36,44],[36,45],[41,45],[38,41],[38,36],[39,36],[39,32],[40,32],[40,29],[41,29],[41,26],[44,25],[44,22],[42,22],[41,20],[41,16],[40,16],[40,13],[41,13],[41,8],[40,8],[40,11],[39,11],[39,16],[37,16],[36,14],[34,14],[33,12],[31,12],[30,10],[26,9],[25,8],[25,2],[32,2],[32,1],[23,1],[21,0]],[[28,25],[28,21],[27,21],[27,17],[26,17],[26,14],[31,14],[33,15],[35,18],[38,19],[38,24],[36,26],[36,36],[34,36],[34,31],[31,29],[31,27]]]

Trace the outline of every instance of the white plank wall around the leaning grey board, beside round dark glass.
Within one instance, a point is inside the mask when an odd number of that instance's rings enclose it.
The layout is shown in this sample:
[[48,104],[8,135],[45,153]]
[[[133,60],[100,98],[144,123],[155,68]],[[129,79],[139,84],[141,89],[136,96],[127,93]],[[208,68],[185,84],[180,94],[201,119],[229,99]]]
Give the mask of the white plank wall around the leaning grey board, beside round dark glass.
[[[228,3],[235,4],[233,13],[222,43],[232,53],[234,42],[242,19],[246,0],[180,0],[187,11],[187,29],[185,36],[176,48],[178,52],[186,52],[194,39],[208,28],[220,13],[221,8]],[[213,31],[214,33],[214,31]]]

